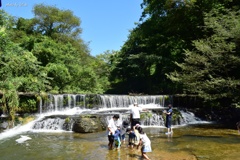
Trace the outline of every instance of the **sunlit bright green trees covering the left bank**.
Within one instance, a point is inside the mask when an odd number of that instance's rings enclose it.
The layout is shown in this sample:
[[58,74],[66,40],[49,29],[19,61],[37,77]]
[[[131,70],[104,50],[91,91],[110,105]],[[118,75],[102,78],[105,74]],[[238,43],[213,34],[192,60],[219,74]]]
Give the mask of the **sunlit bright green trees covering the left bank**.
[[10,120],[32,111],[26,104],[36,105],[21,103],[20,93],[104,93],[109,87],[108,65],[90,55],[72,11],[40,4],[33,13],[24,19],[0,10],[1,110]]

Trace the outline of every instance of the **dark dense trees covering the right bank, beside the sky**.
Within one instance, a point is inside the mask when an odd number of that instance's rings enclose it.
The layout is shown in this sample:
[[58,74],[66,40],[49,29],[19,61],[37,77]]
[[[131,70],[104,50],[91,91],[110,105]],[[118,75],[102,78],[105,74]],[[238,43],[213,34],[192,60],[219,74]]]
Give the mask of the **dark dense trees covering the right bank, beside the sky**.
[[144,0],[138,23],[112,57],[111,91],[191,94],[239,106],[237,0]]

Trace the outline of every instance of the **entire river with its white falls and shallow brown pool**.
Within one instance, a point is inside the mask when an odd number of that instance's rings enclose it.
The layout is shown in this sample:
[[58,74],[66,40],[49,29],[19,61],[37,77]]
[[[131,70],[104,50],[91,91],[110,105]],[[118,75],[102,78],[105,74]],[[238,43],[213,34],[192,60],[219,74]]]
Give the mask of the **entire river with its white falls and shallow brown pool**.
[[[66,97],[65,101],[64,97]],[[101,105],[98,105],[97,111],[101,113],[108,112],[108,110],[114,112],[126,110],[133,102],[138,102],[147,109],[163,110],[165,103],[172,101],[168,96],[101,95],[99,97]],[[42,113],[59,110],[61,113],[55,114],[81,114],[82,110],[79,108],[86,106],[88,105],[85,95],[53,95],[50,96],[50,101],[40,103],[39,119],[46,116]],[[68,110],[70,112],[64,111],[65,107],[71,108]],[[166,128],[161,115],[153,114],[150,121],[143,123],[148,124],[144,127],[144,132],[151,140],[152,152],[148,153],[151,160],[240,159],[240,134],[236,129],[201,121],[190,112],[181,114],[184,123],[174,125],[172,135],[165,135]],[[152,121],[153,118],[154,121]],[[60,130],[45,130],[45,127],[40,127],[42,130],[39,131],[32,127],[36,121],[37,119],[20,128],[16,127],[0,134],[1,160],[141,159],[141,151],[128,148],[127,142],[122,144],[119,150],[109,150],[106,131],[80,134],[63,131],[61,128]]]

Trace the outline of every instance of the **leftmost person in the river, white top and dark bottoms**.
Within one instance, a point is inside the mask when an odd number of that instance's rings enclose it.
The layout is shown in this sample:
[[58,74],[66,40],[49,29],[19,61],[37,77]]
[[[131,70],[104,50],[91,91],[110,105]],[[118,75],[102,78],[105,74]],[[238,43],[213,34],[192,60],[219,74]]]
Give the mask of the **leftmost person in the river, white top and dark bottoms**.
[[108,148],[113,149],[114,134],[117,130],[117,126],[120,126],[119,115],[115,114],[108,122]]

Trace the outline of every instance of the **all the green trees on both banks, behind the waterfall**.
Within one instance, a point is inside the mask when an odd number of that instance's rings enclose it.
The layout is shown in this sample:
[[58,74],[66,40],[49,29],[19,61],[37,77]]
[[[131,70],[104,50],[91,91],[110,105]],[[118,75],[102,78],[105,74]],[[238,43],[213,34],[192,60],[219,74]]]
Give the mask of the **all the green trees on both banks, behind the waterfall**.
[[96,57],[70,10],[40,4],[31,19],[0,10],[3,110],[14,119],[19,92],[191,94],[238,107],[240,1],[143,0],[141,7],[121,50]]

